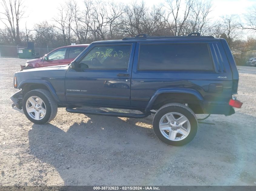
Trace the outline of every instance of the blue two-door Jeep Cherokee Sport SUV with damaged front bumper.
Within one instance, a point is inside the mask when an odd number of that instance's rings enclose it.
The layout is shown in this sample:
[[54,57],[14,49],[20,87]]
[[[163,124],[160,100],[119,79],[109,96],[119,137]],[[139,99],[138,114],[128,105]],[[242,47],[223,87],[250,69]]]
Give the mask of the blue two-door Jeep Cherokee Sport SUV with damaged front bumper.
[[[195,114],[234,113],[238,71],[224,39],[150,37],[91,43],[70,65],[16,72],[11,99],[33,123],[48,123],[58,107],[71,113],[143,118],[155,114],[161,141],[185,145],[196,135]],[[138,110],[84,110],[81,106]]]

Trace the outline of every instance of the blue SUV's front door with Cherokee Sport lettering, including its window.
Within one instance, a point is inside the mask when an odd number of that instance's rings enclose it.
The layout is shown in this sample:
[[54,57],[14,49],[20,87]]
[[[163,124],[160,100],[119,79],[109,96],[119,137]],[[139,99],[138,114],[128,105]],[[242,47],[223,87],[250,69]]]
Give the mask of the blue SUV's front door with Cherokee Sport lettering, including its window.
[[130,107],[131,68],[135,43],[97,44],[69,68],[65,77],[68,103]]

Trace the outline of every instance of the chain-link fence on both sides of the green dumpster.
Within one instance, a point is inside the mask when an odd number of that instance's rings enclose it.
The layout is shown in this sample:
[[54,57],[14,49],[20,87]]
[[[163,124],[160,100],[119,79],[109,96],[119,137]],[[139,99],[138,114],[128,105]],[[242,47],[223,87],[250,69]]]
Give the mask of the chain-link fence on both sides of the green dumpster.
[[[27,49],[24,46],[0,46],[0,58],[1,57],[14,57],[18,58],[18,49]],[[45,54],[51,52],[52,48],[34,48],[35,53],[38,53],[39,58],[44,56]]]

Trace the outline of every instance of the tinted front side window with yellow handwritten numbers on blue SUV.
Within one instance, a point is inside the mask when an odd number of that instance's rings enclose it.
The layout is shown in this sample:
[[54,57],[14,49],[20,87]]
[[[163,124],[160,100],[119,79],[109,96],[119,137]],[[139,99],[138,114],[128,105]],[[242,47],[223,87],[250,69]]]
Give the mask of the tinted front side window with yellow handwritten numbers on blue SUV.
[[127,69],[131,45],[95,46],[79,62],[80,68]]

